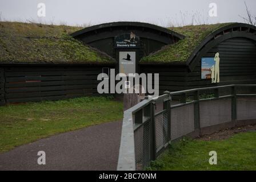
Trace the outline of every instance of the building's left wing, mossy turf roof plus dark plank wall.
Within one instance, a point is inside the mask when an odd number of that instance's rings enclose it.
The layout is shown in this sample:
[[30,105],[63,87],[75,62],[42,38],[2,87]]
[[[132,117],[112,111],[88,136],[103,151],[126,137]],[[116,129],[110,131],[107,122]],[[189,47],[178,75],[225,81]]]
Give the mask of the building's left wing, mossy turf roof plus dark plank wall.
[[0,104],[91,96],[115,60],[75,40],[81,28],[0,22]]

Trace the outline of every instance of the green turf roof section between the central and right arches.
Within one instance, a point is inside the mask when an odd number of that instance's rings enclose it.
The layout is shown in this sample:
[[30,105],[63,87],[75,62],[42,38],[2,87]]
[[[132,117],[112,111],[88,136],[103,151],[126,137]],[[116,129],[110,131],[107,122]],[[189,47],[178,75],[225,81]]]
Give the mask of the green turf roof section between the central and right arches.
[[186,36],[175,44],[163,47],[149,56],[142,57],[140,63],[185,63],[194,49],[211,32],[232,23],[203,24],[198,26],[171,27],[170,30]]

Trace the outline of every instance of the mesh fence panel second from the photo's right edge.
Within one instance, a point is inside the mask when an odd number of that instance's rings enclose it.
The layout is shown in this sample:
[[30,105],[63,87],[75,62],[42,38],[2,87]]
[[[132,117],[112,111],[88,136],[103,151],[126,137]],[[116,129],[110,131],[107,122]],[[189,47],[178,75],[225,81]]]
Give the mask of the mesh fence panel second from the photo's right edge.
[[214,126],[232,120],[231,98],[201,101],[199,108],[201,127]]

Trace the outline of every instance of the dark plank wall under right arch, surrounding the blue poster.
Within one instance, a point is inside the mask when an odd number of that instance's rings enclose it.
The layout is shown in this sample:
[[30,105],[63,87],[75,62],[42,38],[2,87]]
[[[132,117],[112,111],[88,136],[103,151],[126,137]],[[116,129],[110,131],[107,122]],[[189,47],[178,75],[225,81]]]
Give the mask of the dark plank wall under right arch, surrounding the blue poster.
[[256,43],[246,38],[227,39],[211,48],[202,57],[214,57],[219,52],[220,82],[201,79],[201,57],[197,66],[189,73],[188,86],[205,87],[229,84],[256,83]]

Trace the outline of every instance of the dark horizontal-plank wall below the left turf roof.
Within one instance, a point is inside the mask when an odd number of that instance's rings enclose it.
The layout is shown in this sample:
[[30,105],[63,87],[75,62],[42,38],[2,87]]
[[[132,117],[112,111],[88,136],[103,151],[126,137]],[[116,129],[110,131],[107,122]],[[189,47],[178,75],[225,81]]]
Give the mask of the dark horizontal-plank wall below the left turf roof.
[[5,66],[6,103],[97,95],[100,82],[97,76],[102,68],[101,65]]

